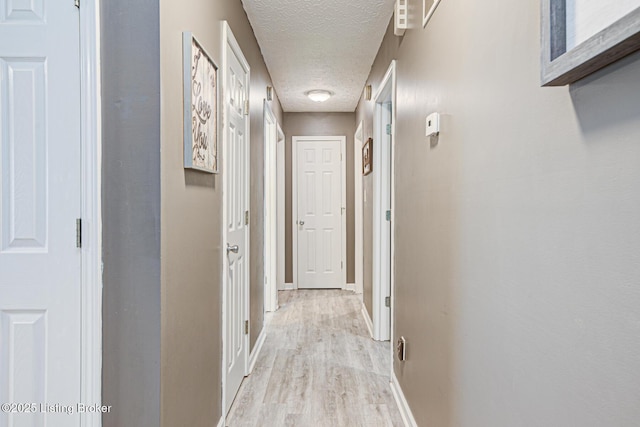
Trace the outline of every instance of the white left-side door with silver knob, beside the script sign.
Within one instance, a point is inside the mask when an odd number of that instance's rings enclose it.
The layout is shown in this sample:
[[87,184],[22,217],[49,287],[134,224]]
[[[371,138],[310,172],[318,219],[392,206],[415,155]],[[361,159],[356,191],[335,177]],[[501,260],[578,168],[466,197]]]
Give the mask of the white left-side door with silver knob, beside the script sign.
[[226,413],[245,376],[249,353],[248,327],[245,327],[249,319],[249,65],[227,25],[224,38]]

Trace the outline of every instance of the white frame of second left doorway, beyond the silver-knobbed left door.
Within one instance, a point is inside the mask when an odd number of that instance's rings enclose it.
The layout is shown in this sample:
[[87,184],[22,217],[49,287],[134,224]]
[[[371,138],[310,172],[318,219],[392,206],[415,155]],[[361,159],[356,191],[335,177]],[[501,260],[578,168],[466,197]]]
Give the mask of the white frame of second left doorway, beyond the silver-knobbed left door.
[[[263,101],[264,120],[264,311],[278,309],[277,261],[278,261],[278,222],[277,222],[277,176],[276,154],[278,130],[276,116],[269,103]],[[268,191],[268,189],[271,190]],[[270,213],[270,215],[268,214]],[[267,233],[267,230],[270,232]],[[269,236],[269,239],[267,239]],[[269,240],[269,241],[267,241]]]

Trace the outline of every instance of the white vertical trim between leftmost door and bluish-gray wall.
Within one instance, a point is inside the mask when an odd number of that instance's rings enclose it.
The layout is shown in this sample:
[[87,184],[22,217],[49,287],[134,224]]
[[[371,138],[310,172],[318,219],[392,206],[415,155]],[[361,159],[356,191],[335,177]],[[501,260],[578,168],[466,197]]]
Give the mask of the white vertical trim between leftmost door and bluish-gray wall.
[[[82,144],[82,403],[102,404],[102,126],[100,0],[80,7]],[[100,413],[80,415],[83,427],[100,427]]]

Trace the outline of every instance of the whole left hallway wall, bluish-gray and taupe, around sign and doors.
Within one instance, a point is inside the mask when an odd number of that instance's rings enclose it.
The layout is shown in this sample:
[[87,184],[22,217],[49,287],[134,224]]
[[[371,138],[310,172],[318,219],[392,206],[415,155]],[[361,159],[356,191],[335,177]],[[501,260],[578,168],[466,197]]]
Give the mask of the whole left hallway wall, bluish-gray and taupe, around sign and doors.
[[[251,66],[251,346],[262,330],[271,80],[242,4],[104,2],[103,402],[114,408],[105,427],[215,426],[222,414],[222,175],[183,168],[182,31],[222,66],[223,19]],[[282,122],[277,98],[272,109]]]

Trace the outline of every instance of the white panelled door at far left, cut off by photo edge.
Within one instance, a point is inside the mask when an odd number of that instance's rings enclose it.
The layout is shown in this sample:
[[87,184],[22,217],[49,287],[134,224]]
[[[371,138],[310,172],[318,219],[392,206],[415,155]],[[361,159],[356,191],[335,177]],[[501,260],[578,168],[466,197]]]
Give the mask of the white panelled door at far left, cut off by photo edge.
[[80,424],[79,61],[73,2],[0,0],[0,426]]

